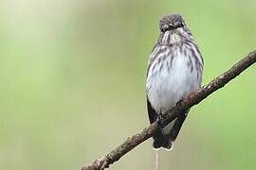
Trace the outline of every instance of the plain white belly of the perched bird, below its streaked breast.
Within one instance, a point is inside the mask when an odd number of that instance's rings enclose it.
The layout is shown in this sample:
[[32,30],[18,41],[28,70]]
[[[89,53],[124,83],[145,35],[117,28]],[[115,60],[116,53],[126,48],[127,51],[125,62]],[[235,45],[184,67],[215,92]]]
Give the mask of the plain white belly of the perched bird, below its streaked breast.
[[[200,86],[200,78],[196,73],[196,67],[189,65],[188,57],[175,56],[172,68],[167,66],[158,72],[150,70],[147,77],[148,99],[156,113],[164,113],[170,110],[177,101]],[[194,62],[192,61],[194,65]],[[157,70],[157,65],[155,70]],[[159,65],[158,65],[159,67]]]

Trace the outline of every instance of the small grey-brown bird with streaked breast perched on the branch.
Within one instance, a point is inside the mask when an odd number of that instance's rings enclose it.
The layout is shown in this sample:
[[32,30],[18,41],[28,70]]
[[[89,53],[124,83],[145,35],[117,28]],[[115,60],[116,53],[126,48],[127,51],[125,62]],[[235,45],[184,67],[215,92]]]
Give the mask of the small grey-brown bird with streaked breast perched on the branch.
[[[180,14],[163,16],[160,35],[148,60],[146,94],[150,123],[161,119],[177,102],[201,86],[204,60]],[[153,147],[172,150],[189,110],[166,127],[158,126]]]

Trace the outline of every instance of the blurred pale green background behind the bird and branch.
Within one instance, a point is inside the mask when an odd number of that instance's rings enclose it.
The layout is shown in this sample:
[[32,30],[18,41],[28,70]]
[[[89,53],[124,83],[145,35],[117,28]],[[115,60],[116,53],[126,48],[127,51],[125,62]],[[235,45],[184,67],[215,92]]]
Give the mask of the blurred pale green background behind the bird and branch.
[[[203,84],[255,47],[253,0],[1,0],[0,169],[80,169],[146,127],[147,59],[181,13]],[[191,110],[161,169],[256,168],[256,67]],[[152,140],[111,169],[154,169]]]

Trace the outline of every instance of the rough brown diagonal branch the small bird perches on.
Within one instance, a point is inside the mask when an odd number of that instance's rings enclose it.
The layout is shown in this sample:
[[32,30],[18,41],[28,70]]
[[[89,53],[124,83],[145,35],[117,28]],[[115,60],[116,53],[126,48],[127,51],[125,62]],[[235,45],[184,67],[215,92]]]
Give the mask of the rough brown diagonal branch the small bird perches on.
[[[236,76],[239,76],[243,71],[245,71],[250,65],[256,62],[256,50],[250,52],[247,57],[237,62],[233,65],[227,72],[220,76],[215,77],[206,86],[199,88],[197,91],[190,93],[187,97],[183,98],[178,104],[171,110],[163,114],[163,125],[168,125],[176,117],[178,117],[184,110],[192,108],[197,105],[211,93],[217,91],[218,89],[224,87],[229,81]],[[149,127],[145,127],[141,132],[128,137],[127,140],[120,144],[117,148],[112,150],[107,155],[101,157],[100,159],[92,162],[87,166],[83,166],[82,170],[103,170],[109,167],[110,164],[128,153],[130,150],[135,148],[138,144],[143,143],[147,139],[151,138],[155,133],[157,128],[156,122],[151,124]]]

